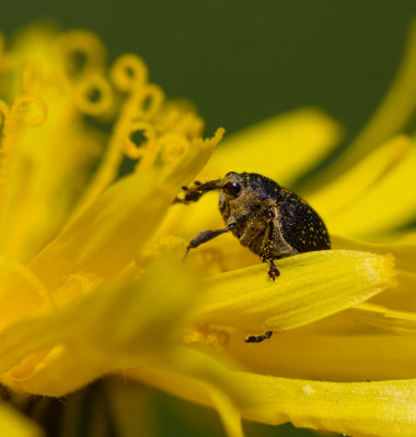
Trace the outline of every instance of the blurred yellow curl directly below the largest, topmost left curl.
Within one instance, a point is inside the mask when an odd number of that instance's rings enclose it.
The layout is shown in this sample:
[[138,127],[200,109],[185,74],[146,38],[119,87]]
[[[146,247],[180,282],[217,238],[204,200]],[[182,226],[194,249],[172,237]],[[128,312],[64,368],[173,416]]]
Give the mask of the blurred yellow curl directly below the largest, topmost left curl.
[[100,116],[112,107],[113,90],[104,76],[93,74],[77,85],[74,101],[81,113]]

